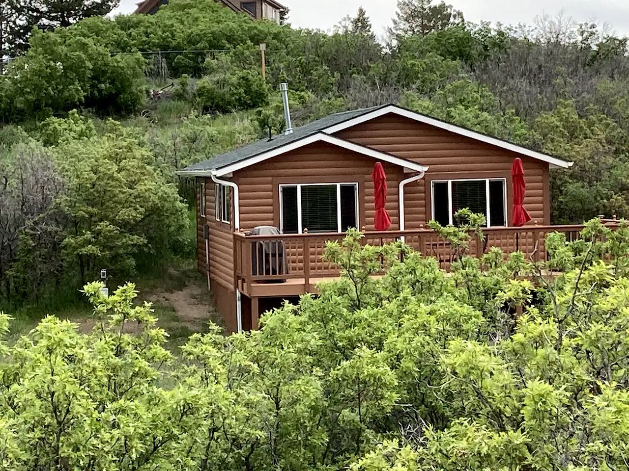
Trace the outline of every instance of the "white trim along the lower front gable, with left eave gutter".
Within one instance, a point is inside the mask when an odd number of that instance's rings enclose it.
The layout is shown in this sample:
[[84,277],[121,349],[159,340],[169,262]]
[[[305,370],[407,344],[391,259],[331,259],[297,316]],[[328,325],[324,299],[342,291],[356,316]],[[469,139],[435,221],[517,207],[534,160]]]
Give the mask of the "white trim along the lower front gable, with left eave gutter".
[[420,165],[418,163],[412,162],[410,160],[401,159],[399,157],[393,156],[391,154],[387,154],[381,151],[377,151],[376,149],[371,149],[365,146],[360,146],[359,144],[350,143],[349,141],[345,141],[343,139],[335,138],[334,136],[329,136],[325,133],[317,133],[312,136],[308,136],[307,138],[299,139],[299,141],[294,141],[292,143],[286,144],[286,146],[281,146],[277,149],[272,149],[265,153],[250,157],[248,159],[241,160],[239,162],[233,163],[231,165],[227,165],[223,168],[219,168],[216,170],[184,170],[177,172],[179,175],[186,176],[224,176],[228,173],[233,173],[235,171],[241,170],[242,168],[255,165],[262,161],[268,160],[275,156],[294,151],[295,149],[302,148],[304,146],[308,146],[308,144],[313,144],[316,142],[325,142],[328,144],[332,144],[334,146],[342,147],[344,149],[348,149],[350,151],[366,155],[368,157],[372,157],[376,160],[381,160],[384,162],[392,163],[394,165],[399,165],[403,168],[408,168],[411,171],[427,171],[428,167],[425,165]]

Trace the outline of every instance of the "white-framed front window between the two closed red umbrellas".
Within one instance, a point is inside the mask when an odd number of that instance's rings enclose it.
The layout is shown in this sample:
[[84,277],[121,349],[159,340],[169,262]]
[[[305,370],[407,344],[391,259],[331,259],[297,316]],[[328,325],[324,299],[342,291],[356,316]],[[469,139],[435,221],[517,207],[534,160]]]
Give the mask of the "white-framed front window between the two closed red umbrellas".
[[433,180],[432,219],[441,225],[455,225],[454,214],[463,208],[483,214],[487,227],[507,225],[506,178]]

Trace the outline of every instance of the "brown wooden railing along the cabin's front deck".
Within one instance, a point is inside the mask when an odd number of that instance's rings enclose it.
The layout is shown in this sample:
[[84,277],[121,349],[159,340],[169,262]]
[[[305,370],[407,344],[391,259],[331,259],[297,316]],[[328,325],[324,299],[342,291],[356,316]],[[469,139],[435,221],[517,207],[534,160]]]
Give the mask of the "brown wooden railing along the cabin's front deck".
[[[480,257],[499,247],[504,252],[521,251],[535,261],[546,257],[548,234],[562,232],[567,240],[579,238],[582,225],[530,225],[524,227],[491,227],[483,229],[484,240],[472,238],[469,254]],[[322,259],[328,241],[340,241],[345,234],[284,234],[248,236],[234,234],[234,265],[237,283],[282,283],[289,279],[311,280],[338,276],[338,268]],[[435,257],[447,269],[458,257],[448,241],[433,230],[364,232],[364,243],[382,246],[403,240],[425,256]]]

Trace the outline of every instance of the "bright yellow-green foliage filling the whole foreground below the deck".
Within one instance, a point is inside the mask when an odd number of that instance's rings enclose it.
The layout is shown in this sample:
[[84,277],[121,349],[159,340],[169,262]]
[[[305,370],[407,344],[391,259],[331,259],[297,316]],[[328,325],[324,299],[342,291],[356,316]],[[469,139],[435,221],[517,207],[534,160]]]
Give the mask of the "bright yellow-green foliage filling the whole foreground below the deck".
[[[192,335],[177,363],[133,284],[109,298],[88,284],[91,333],[48,317],[0,342],[1,463],[621,468],[628,246],[625,222],[612,231],[593,220],[579,241],[550,240],[548,262],[494,251],[483,268],[464,256],[446,274],[354,230],[326,248],[340,280],[266,313],[257,332]],[[9,325],[0,314],[3,335]]]

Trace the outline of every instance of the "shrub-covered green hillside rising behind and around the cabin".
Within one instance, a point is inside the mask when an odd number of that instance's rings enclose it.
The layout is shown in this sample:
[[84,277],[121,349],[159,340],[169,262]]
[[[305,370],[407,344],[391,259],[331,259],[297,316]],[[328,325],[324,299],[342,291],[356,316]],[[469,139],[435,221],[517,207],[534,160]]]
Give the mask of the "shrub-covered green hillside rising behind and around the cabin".
[[[400,21],[424,26],[399,27],[386,45],[362,10],[328,34],[251,21],[213,0],[35,31],[0,75],[0,203],[10,208],[0,213],[0,294],[192,256],[191,186],[175,171],[281,132],[284,80],[296,124],[398,102],[575,161],[552,173],[554,222],[629,215],[625,38],[550,19],[475,25],[445,4],[404,4]],[[435,11],[439,21],[427,21]],[[151,198],[128,197],[136,170]],[[103,181],[104,193],[85,190]],[[123,211],[104,203],[108,192],[111,202],[126,195]]]

